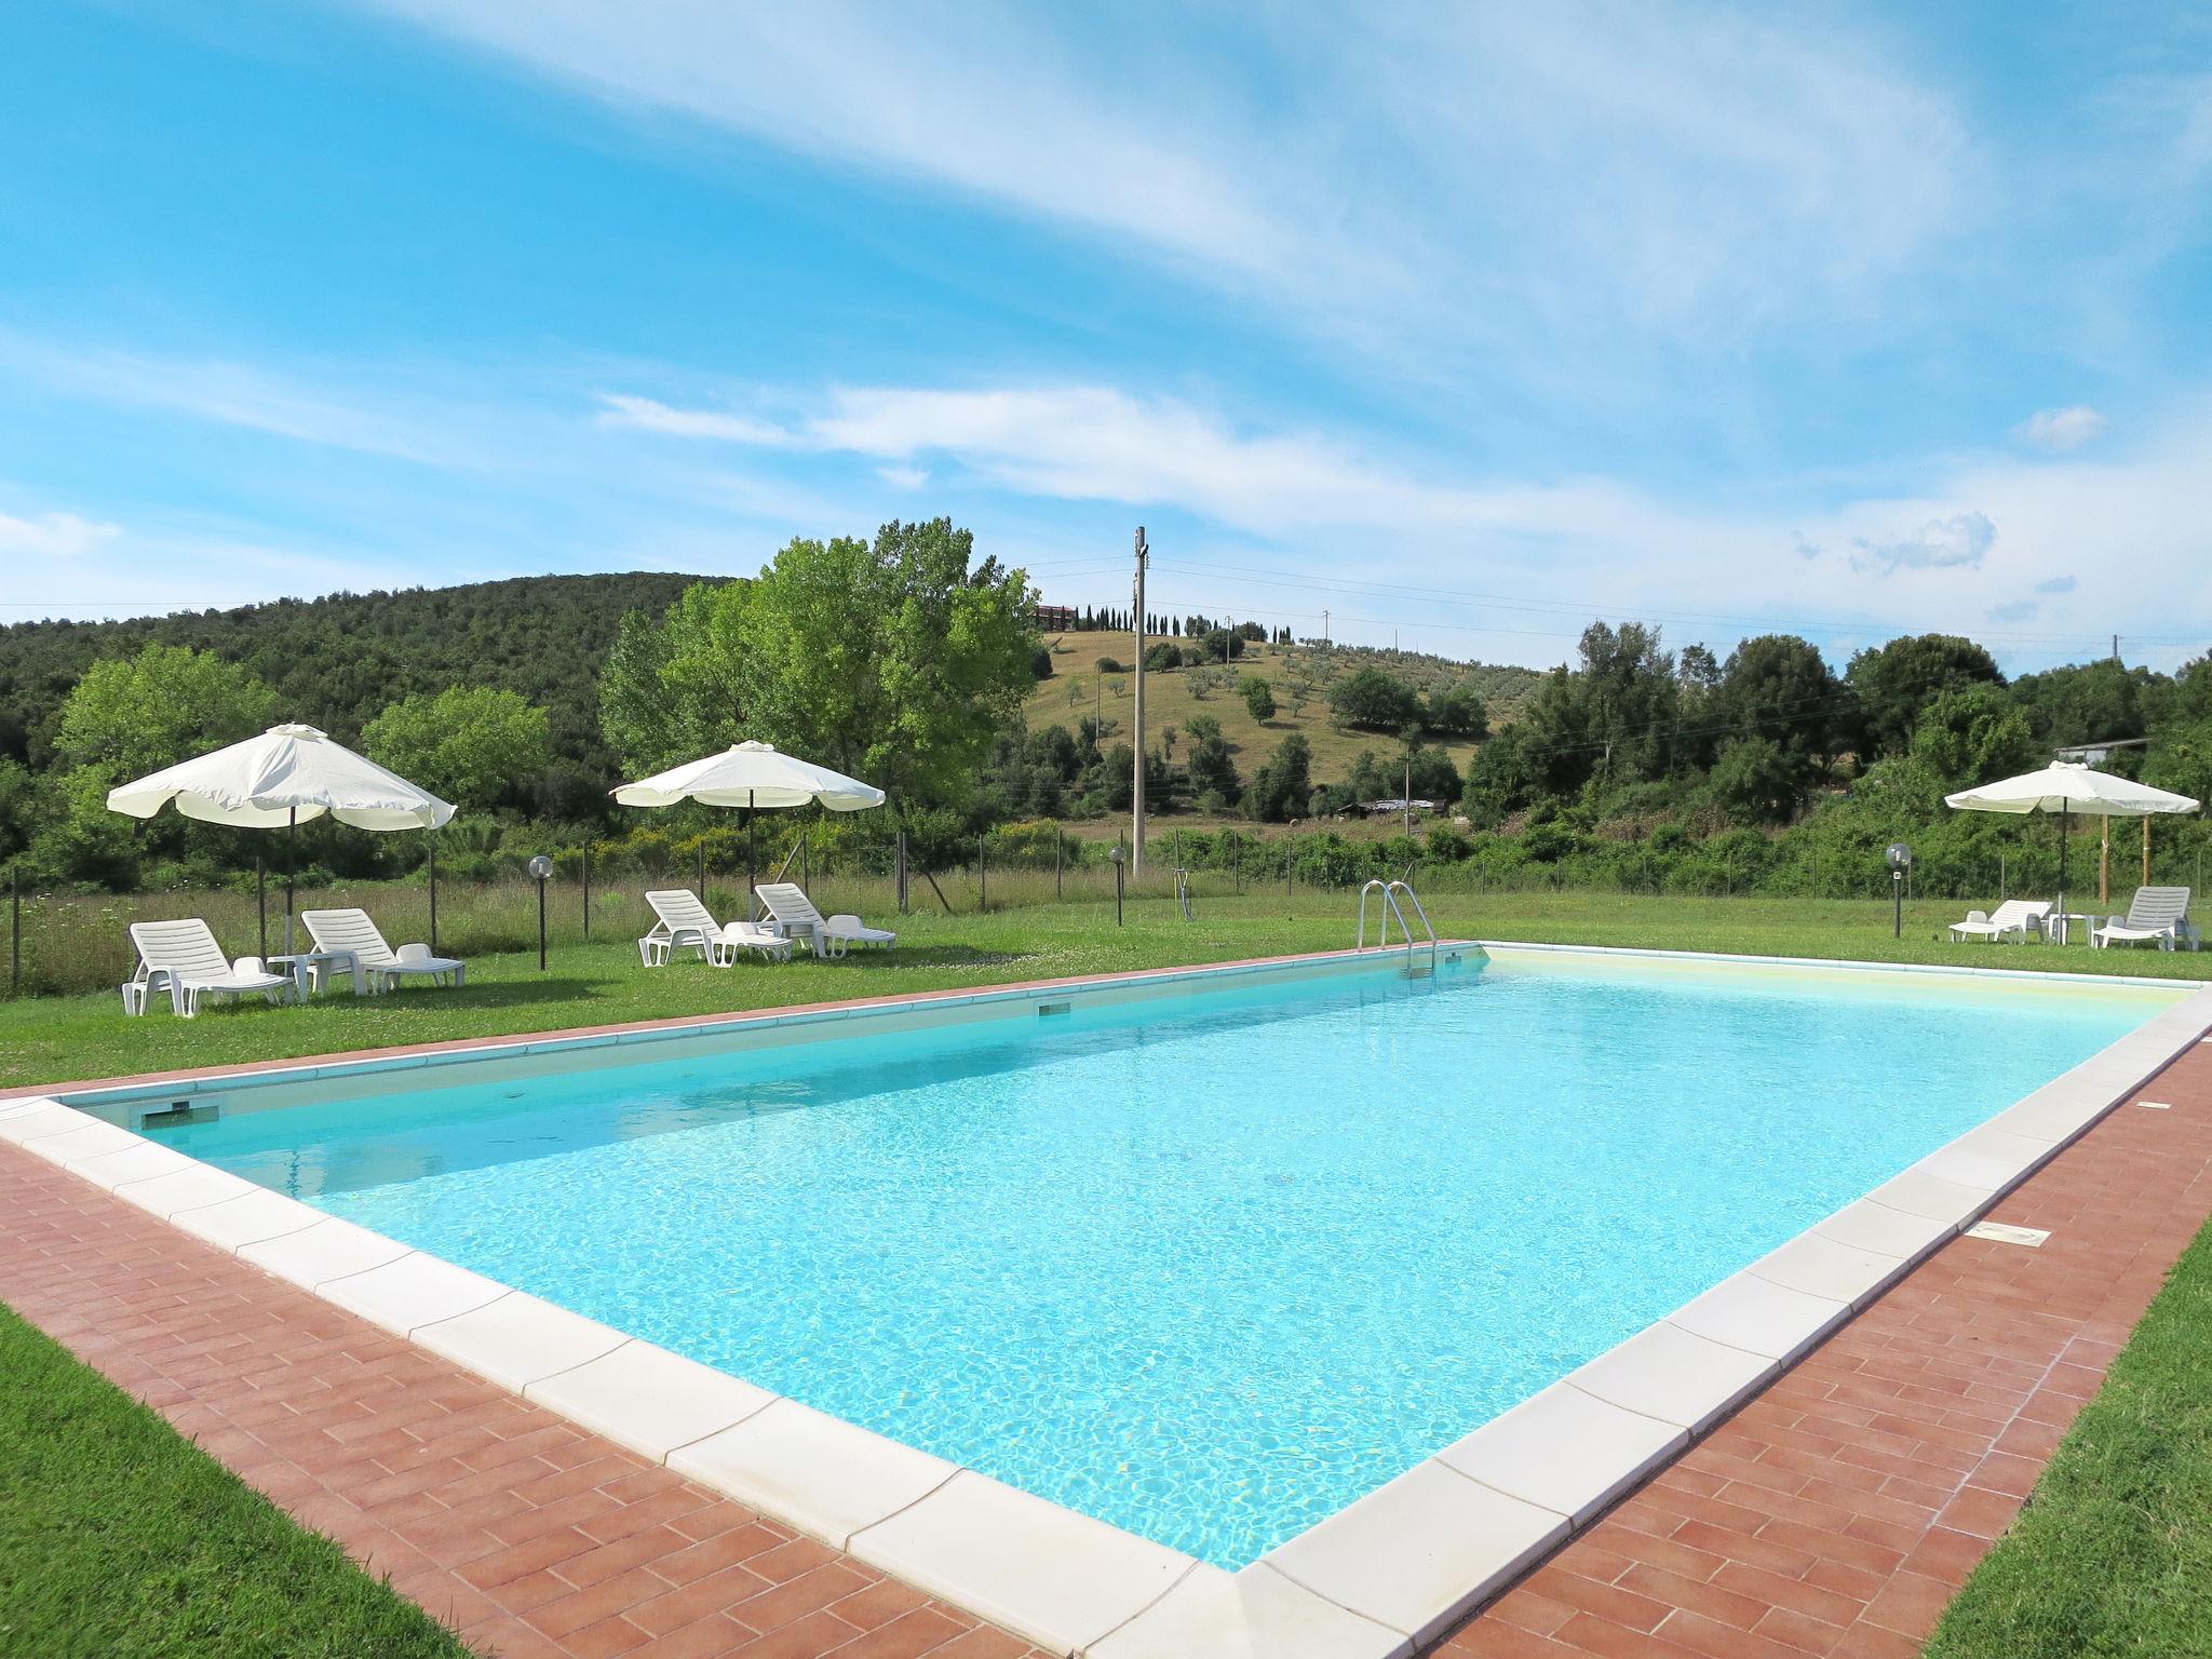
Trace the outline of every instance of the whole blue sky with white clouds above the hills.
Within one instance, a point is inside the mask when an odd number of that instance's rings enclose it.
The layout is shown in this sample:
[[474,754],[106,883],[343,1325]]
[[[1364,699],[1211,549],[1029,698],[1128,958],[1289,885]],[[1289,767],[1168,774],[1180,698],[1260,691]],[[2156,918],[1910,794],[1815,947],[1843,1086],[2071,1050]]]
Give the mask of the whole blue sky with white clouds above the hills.
[[2201,7],[0,9],[0,617],[750,571],[2212,646]]

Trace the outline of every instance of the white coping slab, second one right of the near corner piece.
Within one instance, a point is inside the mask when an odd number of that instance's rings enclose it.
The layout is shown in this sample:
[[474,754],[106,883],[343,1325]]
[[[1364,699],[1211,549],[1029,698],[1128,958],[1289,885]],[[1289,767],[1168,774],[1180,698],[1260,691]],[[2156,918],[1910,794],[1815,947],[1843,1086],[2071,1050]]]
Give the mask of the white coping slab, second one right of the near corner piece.
[[1586,1526],[1606,1504],[1690,1444],[1690,1431],[1553,1383],[1436,1453],[1506,1498]]

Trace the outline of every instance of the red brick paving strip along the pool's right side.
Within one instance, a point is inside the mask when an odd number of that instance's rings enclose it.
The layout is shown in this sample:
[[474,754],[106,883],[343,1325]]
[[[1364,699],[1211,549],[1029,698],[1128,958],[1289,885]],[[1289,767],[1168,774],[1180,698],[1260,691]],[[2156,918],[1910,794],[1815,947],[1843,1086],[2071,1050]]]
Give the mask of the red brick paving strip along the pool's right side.
[[1462,1624],[1458,1659],[1905,1659],[2212,1212],[2212,1046]]

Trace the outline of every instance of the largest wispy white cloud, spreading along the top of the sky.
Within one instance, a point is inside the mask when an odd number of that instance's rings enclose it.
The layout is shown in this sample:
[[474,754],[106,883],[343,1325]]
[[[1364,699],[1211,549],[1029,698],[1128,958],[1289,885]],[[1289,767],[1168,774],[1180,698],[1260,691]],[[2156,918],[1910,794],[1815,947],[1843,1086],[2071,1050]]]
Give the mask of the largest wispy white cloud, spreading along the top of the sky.
[[361,4],[617,108],[1097,237],[1427,367],[1606,374],[1630,338],[1871,316],[1973,223],[1947,97],[1878,35],[1803,13],[1323,0],[1217,18],[1208,51],[1148,0],[1082,20],[1011,0]]

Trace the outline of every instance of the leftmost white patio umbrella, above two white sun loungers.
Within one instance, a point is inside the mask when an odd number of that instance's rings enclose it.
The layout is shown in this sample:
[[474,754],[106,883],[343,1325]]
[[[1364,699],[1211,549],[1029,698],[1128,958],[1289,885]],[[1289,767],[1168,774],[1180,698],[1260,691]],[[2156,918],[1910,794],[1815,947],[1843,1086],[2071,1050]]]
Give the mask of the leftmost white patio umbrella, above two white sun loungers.
[[[150,818],[175,805],[186,818],[241,830],[290,830],[325,812],[356,830],[436,830],[453,807],[387,772],[312,726],[272,726],[210,754],[179,761],[137,783],[108,790],[108,807]],[[292,872],[288,838],[283,878],[283,947],[292,951]]]

